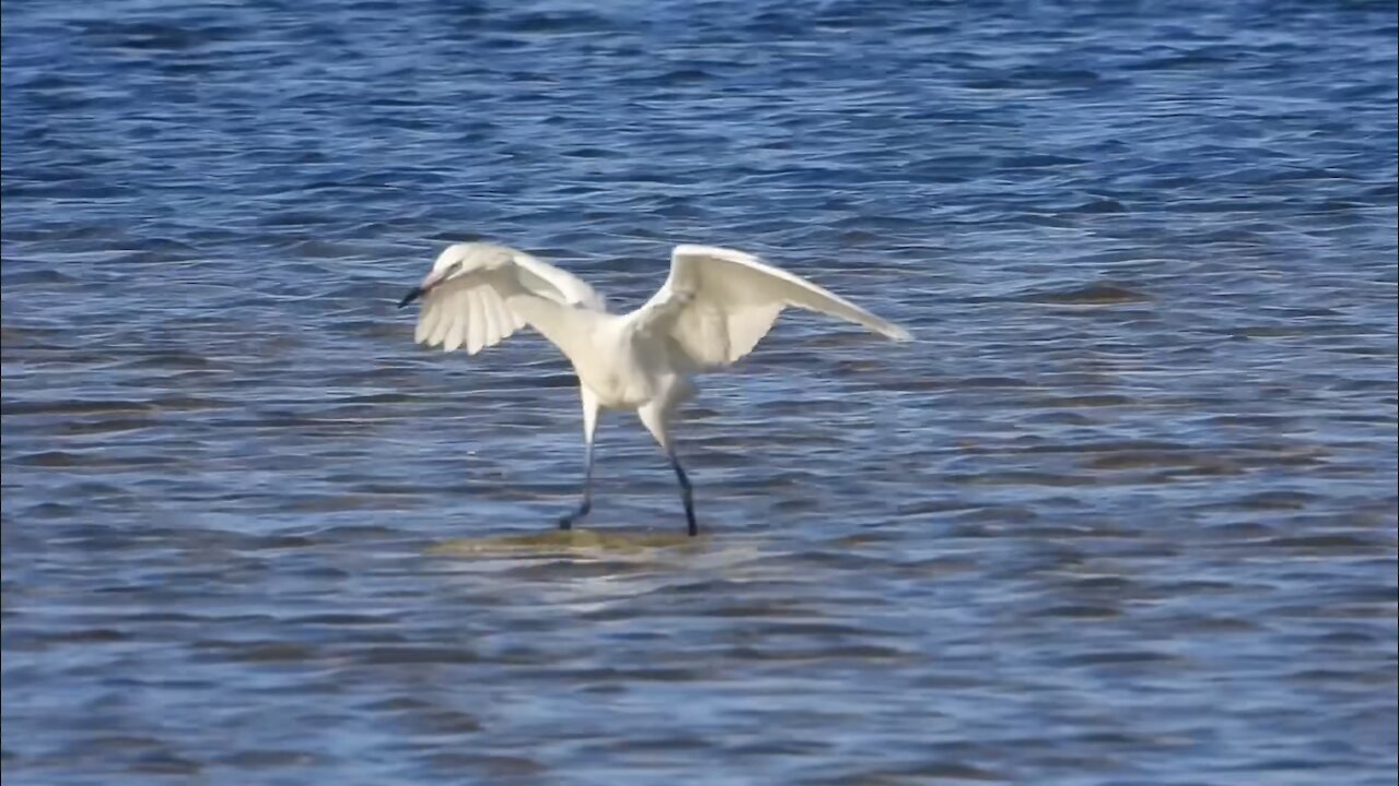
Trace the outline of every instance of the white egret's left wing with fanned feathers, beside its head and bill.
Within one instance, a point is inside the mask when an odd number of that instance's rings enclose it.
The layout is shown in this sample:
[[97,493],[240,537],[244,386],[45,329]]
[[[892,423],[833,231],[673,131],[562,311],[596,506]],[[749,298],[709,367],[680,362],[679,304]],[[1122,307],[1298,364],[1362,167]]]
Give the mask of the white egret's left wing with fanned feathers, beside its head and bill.
[[586,283],[522,250],[462,243],[449,252],[460,267],[424,295],[417,343],[474,355],[530,324],[568,352],[567,336],[582,327],[575,312],[607,309]]

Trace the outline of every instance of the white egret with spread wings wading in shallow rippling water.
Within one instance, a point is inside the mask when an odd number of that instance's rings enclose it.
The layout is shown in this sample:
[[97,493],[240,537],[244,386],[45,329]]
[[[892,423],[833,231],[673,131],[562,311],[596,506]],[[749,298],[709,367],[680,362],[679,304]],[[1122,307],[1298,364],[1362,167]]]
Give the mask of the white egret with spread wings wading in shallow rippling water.
[[670,277],[645,305],[607,312],[592,287],[522,250],[457,243],[399,308],[422,298],[414,340],[474,355],[529,324],[574,364],[583,400],[583,498],[560,519],[572,529],[592,509],[593,435],[602,410],[635,410],[676,470],[691,536],[694,492],[670,439],[669,420],[690,397],[688,376],[733,364],[767,336],[785,306],[837,316],[895,341],[902,327],[761,259],[715,246],[676,246]]

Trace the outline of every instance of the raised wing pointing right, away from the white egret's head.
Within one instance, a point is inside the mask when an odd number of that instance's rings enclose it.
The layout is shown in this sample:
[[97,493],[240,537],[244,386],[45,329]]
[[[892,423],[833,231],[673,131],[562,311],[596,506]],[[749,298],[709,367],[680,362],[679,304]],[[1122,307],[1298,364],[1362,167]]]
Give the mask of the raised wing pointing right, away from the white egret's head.
[[786,306],[853,322],[895,341],[912,338],[902,327],[804,278],[716,246],[676,246],[670,277],[644,309],[653,309],[656,324],[704,368],[747,355]]

